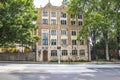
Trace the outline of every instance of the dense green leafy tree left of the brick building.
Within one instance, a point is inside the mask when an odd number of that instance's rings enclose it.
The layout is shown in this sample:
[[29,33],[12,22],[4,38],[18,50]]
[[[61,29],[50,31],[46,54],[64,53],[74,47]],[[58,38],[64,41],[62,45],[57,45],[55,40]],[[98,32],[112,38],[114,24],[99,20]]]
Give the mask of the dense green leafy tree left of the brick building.
[[29,44],[36,20],[33,0],[0,1],[0,44]]

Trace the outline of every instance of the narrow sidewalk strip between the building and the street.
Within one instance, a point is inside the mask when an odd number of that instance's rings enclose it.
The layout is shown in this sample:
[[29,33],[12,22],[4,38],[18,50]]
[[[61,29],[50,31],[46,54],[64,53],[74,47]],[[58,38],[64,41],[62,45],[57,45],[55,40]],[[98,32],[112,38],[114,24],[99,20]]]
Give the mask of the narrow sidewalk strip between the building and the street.
[[[58,64],[58,62],[35,62],[35,61],[0,61],[6,64]],[[91,62],[61,62],[61,64],[120,64],[120,61],[91,61]]]

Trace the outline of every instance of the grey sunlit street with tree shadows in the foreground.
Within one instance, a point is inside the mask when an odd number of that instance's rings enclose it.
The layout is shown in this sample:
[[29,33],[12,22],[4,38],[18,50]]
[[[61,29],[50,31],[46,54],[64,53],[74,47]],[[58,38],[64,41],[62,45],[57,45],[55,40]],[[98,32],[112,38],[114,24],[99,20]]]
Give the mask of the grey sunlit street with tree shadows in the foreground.
[[0,64],[0,80],[120,80],[120,64]]

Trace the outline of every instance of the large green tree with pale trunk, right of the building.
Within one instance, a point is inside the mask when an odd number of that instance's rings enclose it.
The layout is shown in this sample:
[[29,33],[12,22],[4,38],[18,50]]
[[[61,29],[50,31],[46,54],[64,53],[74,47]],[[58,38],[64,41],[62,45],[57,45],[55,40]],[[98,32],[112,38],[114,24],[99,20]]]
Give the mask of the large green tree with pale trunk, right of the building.
[[88,36],[93,46],[98,38],[104,39],[107,60],[109,60],[108,43],[111,34],[115,33],[115,39],[120,37],[119,11],[119,0],[70,0],[68,3],[69,14],[84,16],[84,25],[78,39]]

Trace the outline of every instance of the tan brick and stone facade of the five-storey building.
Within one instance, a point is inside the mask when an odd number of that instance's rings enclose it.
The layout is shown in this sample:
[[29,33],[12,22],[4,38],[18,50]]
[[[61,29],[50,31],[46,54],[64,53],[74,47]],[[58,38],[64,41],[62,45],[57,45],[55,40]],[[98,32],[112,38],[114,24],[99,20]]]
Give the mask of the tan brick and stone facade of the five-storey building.
[[[37,61],[88,60],[87,40],[77,41],[83,24],[82,14],[68,15],[65,5],[53,6],[50,2],[38,11]],[[59,54],[58,54],[59,53]]]

